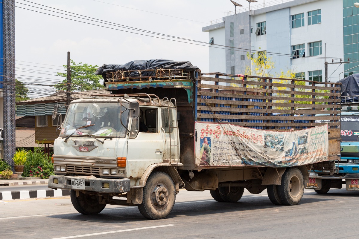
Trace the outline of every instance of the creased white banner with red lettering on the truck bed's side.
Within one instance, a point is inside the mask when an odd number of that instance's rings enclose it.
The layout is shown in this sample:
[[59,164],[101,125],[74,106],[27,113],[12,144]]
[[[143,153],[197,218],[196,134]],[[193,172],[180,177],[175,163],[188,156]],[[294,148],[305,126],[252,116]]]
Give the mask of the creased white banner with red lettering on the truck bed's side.
[[289,167],[328,160],[327,125],[270,131],[196,122],[197,166]]

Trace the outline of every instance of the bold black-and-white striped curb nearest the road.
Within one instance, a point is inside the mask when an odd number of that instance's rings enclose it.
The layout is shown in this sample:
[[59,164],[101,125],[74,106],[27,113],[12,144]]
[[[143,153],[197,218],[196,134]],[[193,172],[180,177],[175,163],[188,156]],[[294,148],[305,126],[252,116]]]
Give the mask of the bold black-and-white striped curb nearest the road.
[[13,200],[13,199],[31,199],[43,197],[61,197],[69,196],[70,190],[68,189],[42,189],[42,190],[25,190],[25,191],[7,191],[0,192],[0,200]]

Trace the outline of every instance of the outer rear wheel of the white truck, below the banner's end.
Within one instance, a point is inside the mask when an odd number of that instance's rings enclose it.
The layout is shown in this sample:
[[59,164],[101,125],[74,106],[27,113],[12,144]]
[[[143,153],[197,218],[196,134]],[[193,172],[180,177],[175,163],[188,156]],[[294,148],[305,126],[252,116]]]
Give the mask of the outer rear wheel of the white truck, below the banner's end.
[[278,185],[280,201],[283,205],[297,205],[304,193],[304,180],[298,168],[287,168]]

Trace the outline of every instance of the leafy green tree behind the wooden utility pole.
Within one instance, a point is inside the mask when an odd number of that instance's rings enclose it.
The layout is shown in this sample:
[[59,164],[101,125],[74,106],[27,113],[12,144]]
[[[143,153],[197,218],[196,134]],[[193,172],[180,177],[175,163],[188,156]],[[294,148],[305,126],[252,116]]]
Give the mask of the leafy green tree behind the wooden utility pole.
[[[57,90],[67,90],[67,65],[63,65],[66,72],[57,72],[57,76],[62,76],[65,79],[54,85]],[[78,63],[71,60],[71,87],[70,92],[88,91],[103,89],[104,86],[100,83],[101,75],[95,75],[97,65],[89,65],[86,63]]]

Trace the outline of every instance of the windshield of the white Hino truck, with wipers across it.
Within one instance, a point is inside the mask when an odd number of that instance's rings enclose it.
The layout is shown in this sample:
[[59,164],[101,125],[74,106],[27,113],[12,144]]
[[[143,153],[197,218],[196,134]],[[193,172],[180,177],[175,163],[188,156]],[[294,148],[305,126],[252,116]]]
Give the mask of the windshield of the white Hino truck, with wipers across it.
[[[123,107],[124,106],[124,107]],[[116,137],[124,138],[126,136],[129,111],[125,110],[129,107],[127,103],[121,106],[117,102],[81,102],[71,104],[69,110],[61,125],[60,136],[74,137],[80,135],[93,135],[96,137]],[[122,124],[120,122],[122,119]],[[78,129],[81,126],[88,127]],[[76,130],[77,129],[77,130]]]

